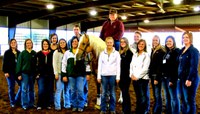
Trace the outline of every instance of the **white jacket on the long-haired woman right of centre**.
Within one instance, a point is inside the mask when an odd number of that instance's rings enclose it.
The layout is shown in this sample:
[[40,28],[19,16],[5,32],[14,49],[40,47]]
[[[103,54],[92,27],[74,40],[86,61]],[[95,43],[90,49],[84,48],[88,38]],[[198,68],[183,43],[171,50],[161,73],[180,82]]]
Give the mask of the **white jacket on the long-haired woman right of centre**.
[[130,77],[134,75],[138,79],[149,79],[149,64],[150,57],[147,52],[143,52],[141,55],[135,53],[130,65]]

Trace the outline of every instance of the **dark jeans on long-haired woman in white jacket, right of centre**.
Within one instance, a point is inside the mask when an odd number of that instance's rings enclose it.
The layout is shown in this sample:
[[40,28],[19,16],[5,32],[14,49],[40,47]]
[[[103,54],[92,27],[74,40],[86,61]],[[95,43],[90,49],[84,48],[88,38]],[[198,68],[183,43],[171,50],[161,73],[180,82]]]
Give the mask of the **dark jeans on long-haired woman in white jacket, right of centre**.
[[136,114],[147,114],[150,107],[149,80],[133,81],[136,94]]

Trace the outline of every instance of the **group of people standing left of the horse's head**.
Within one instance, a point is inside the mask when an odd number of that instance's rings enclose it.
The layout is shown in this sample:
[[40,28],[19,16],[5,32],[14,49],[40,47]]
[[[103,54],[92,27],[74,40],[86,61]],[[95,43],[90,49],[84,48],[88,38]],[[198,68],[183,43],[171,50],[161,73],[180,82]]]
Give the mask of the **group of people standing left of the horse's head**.
[[[79,29],[75,26],[74,29]],[[76,35],[76,32],[75,32]],[[3,57],[3,72],[9,86],[10,106],[21,105],[24,110],[30,108],[61,110],[61,96],[63,107],[72,111],[82,112],[87,106],[87,80],[84,60],[74,62],[76,49],[80,37],[74,36],[67,46],[67,41],[57,34],[52,34],[50,40],[43,39],[41,51],[33,50],[33,42],[26,39],[24,50],[17,49],[17,41],[9,41],[10,48]],[[82,68],[82,69],[80,69]],[[38,102],[35,103],[34,84],[38,84]],[[15,82],[19,89],[15,95]],[[54,83],[56,89],[54,94]],[[61,93],[63,93],[61,95]]]

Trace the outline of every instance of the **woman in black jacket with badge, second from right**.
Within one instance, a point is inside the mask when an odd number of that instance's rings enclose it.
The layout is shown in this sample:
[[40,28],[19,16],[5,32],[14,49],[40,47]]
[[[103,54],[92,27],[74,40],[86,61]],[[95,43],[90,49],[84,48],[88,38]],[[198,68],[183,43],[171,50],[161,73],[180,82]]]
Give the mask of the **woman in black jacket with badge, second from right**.
[[165,92],[166,113],[179,114],[179,98],[178,98],[178,54],[179,49],[176,48],[175,38],[168,36],[165,40],[166,53],[163,57],[163,88]]

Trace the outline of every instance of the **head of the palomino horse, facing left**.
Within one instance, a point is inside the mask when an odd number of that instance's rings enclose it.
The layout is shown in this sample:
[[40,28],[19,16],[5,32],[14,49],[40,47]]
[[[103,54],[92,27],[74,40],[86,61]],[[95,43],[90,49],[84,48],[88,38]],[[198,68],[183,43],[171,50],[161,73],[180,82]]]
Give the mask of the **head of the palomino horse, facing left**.
[[76,59],[80,60],[85,53],[91,50],[90,48],[89,36],[83,34],[78,44],[78,50],[76,51]]

